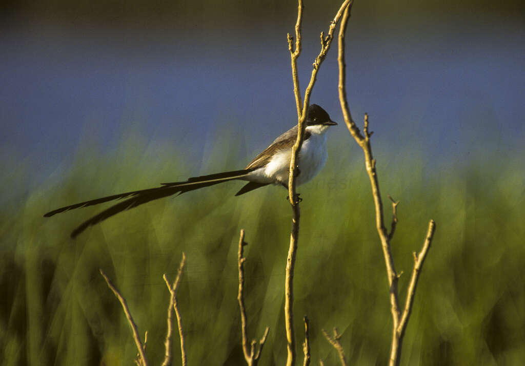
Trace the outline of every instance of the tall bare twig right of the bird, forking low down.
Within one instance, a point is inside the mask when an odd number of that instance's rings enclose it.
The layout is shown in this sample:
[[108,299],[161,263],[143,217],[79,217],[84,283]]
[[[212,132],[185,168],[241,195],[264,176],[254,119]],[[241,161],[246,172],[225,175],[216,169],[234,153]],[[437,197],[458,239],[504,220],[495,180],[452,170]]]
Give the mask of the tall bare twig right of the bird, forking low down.
[[386,274],[388,278],[388,286],[390,292],[390,309],[392,313],[393,320],[393,332],[392,332],[392,344],[391,344],[391,354],[390,354],[390,366],[397,366],[401,359],[401,348],[403,343],[403,336],[406,329],[406,324],[410,316],[415,290],[417,286],[417,280],[419,273],[423,266],[424,259],[430,243],[432,242],[434,231],[435,231],[435,222],[430,220],[427,236],[425,243],[422,249],[422,252],[419,256],[415,256],[414,270],[412,272],[411,282],[407,291],[407,298],[405,301],[405,307],[403,313],[400,311],[399,299],[398,299],[398,290],[397,282],[400,278],[400,274],[397,274],[394,267],[394,260],[392,257],[392,251],[390,246],[390,240],[395,231],[395,226],[397,223],[397,202],[393,200],[393,212],[394,218],[392,222],[392,227],[390,234],[386,230],[384,217],[383,217],[383,202],[381,200],[381,192],[379,189],[379,179],[377,178],[376,171],[376,161],[372,154],[372,145],[370,137],[373,132],[369,132],[369,119],[368,115],[364,115],[364,126],[363,134],[359,128],[355,125],[355,122],[352,119],[350,114],[350,109],[348,107],[348,100],[346,99],[346,90],[345,90],[345,60],[344,60],[344,34],[346,32],[346,25],[348,24],[348,19],[350,17],[350,8],[346,8],[341,20],[341,27],[339,29],[339,54],[338,54],[338,63],[339,63],[339,101],[341,104],[341,110],[343,112],[343,118],[346,123],[346,127],[350,131],[350,134],[355,139],[356,143],[363,149],[364,158],[365,158],[365,167],[366,172],[370,179],[370,185],[372,187],[372,196],[374,199],[375,207],[375,223],[377,233],[381,240],[381,247],[383,249],[383,257],[385,260]]

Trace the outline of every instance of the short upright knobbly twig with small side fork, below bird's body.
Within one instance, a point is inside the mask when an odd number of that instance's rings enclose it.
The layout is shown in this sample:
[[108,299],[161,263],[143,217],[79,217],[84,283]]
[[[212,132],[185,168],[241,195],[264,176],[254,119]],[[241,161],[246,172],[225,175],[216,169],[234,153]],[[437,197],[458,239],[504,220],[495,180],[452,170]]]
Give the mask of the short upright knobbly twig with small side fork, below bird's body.
[[255,351],[255,345],[257,344],[257,341],[254,339],[250,343],[250,347],[248,348],[248,330],[247,330],[247,317],[246,317],[246,306],[244,304],[244,262],[246,261],[246,258],[244,258],[244,246],[248,245],[247,242],[244,241],[244,229],[240,230],[240,236],[239,236],[239,250],[237,255],[237,263],[238,263],[238,269],[239,269],[239,291],[237,293],[237,300],[239,301],[239,309],[240,309],[240,323],[241,323],[241,333],[243,335],[243,353],[244,353],[244,359],[246,360],[246,363],[248,366],[256,366],[259,362],[260,354],[262,352],[262,348],[264,347],[264,344],[266,342],[266,337],[268,337],[268,332],[270,330],[269,327],[266,327],[266,330],[264,334],[262,335],[262,338],[259,340],[259,348],[257,351]]

